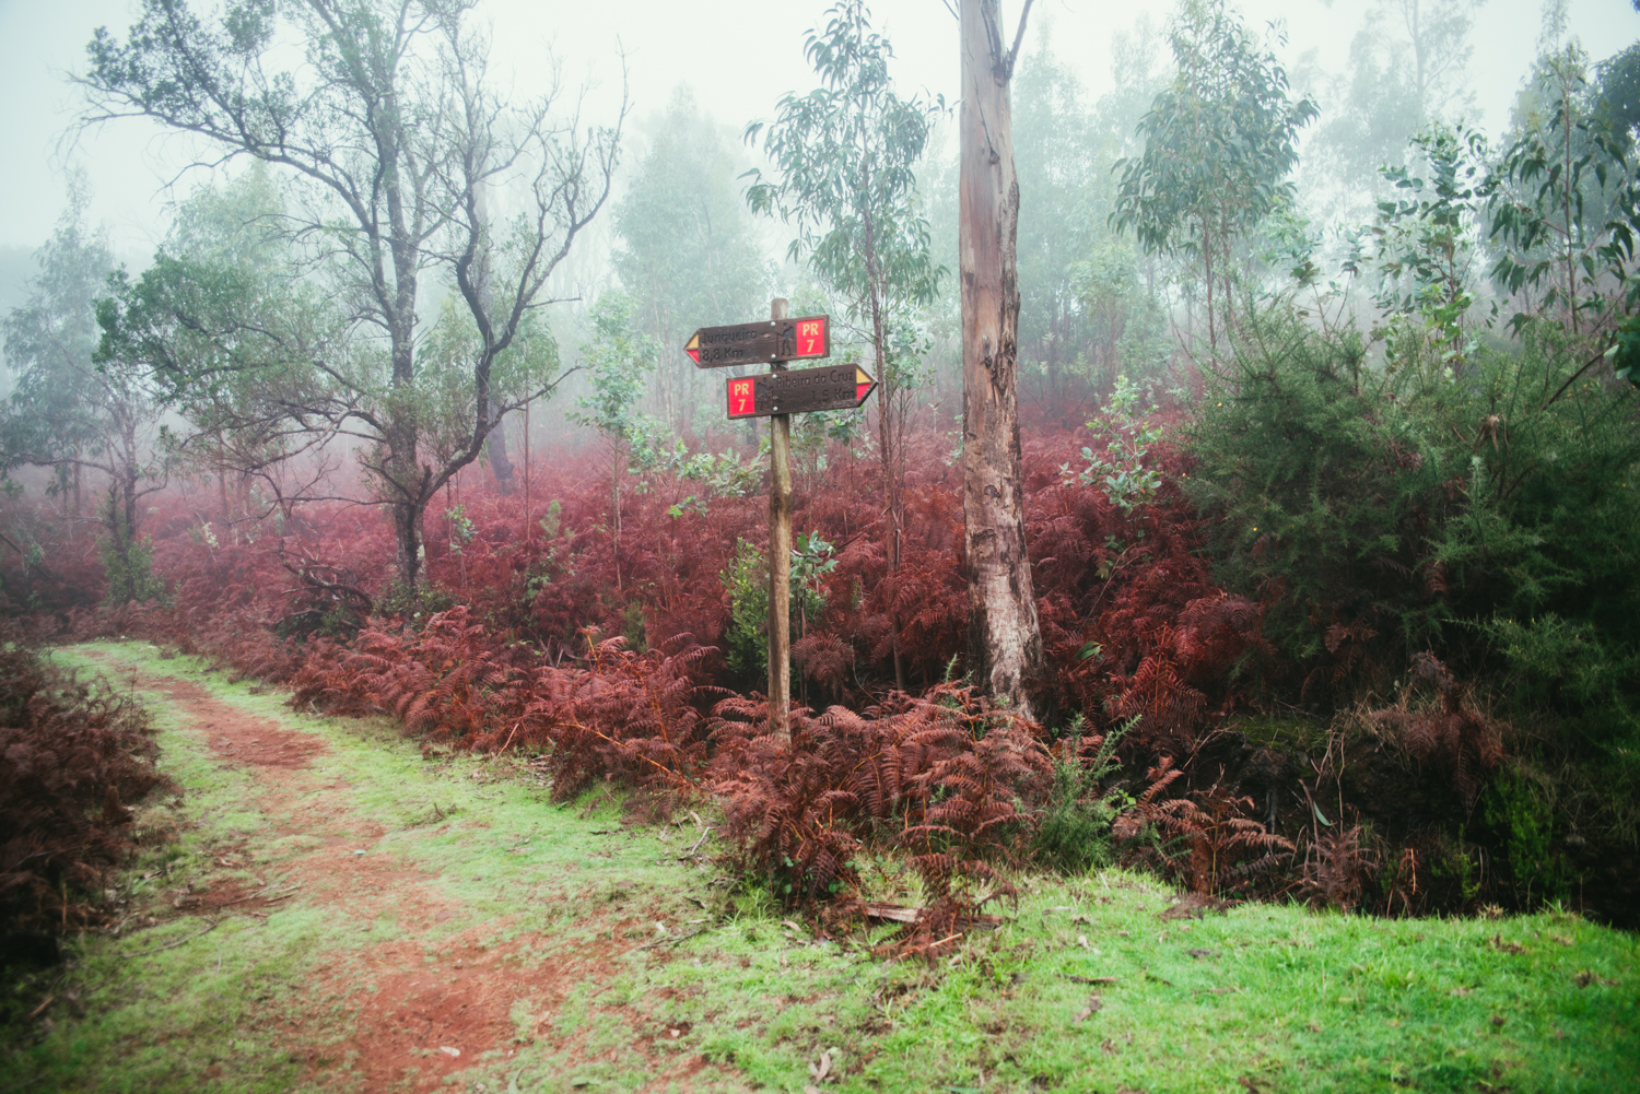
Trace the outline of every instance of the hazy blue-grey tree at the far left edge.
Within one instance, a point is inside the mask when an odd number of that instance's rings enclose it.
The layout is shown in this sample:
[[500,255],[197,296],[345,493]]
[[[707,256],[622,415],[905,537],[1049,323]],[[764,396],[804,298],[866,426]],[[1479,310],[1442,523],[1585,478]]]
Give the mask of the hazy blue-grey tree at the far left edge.
[[162,484],[154,448],[161,408],[141,371],[97,361],[97,302],[115,262],[108,241],[85,228],[84,212],[85,194],[72,187],[69,210],[36,253],[39,274],[28,299],[0,321],[15,379],[0,410],[0,472],[49,467],[48,489],[66,495],[71,528],[80,518],[85,474],[95,476],[107,490],[95,517],[107,597],[123,604],[161,592],[138,535],[138,502]]

